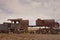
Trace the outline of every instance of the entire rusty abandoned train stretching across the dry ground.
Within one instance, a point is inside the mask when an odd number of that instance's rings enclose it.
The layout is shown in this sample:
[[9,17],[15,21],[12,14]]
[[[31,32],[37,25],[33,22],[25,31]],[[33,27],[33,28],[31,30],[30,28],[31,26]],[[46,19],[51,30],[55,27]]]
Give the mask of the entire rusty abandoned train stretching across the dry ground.
[[58,34],[60,31],[59,23],[55,22],[54,19],[46,19],[46,20],[37,19],[36,25],[33,27],[39,27],[39,29],[34,31],[28,30],[29,27],[32,28],[32,26],[29,26],[29,20],[8,19],[8,21],[11,21],[11,23],[4,22],[3,24],[0,24],[0,32]]

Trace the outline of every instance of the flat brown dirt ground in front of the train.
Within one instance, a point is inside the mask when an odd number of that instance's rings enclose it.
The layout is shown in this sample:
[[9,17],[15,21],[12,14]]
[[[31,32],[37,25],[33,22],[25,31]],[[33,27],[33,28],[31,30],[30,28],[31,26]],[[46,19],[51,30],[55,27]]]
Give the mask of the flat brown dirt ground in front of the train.
[[60,40],[60,34],[3,34],[0,40]]

